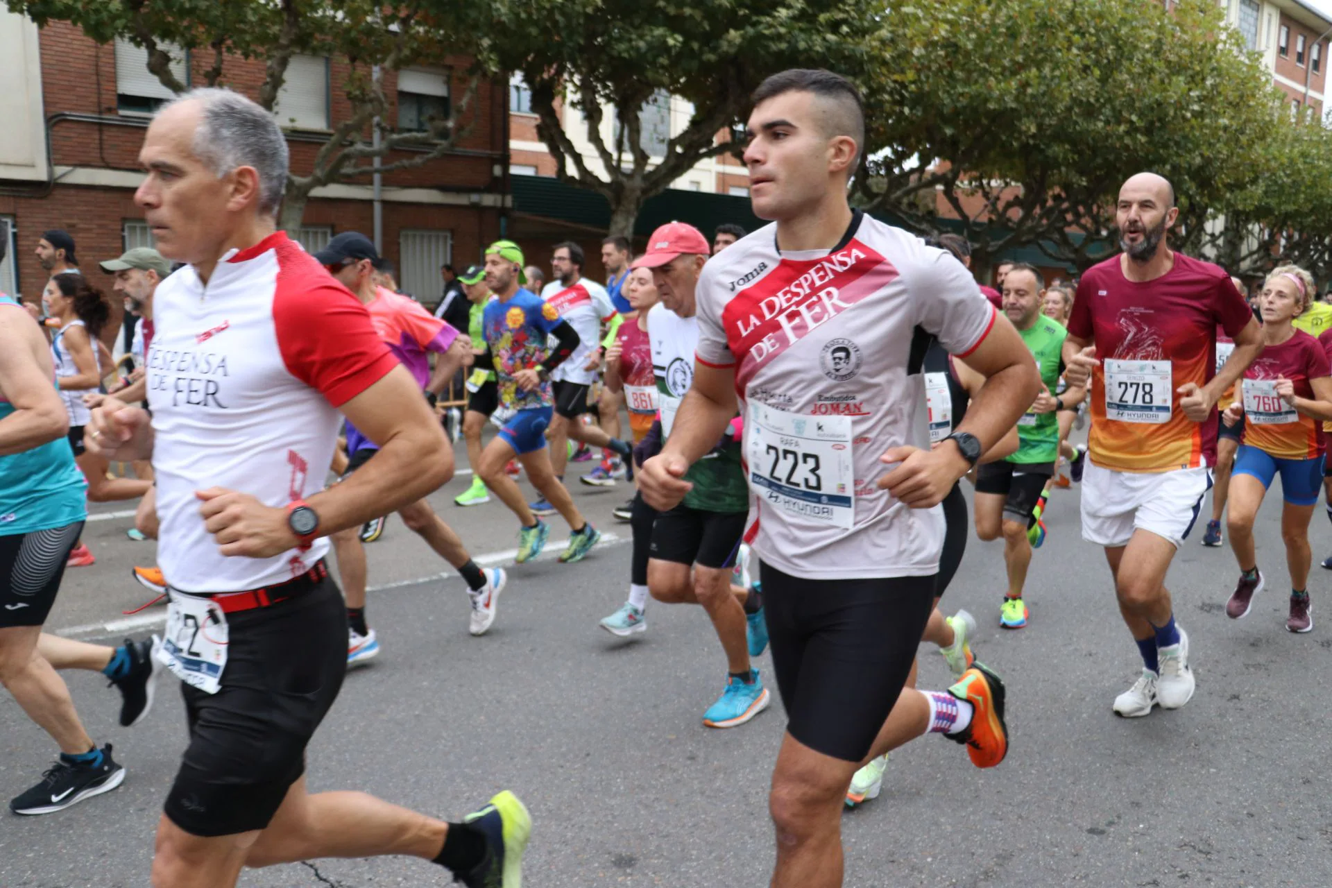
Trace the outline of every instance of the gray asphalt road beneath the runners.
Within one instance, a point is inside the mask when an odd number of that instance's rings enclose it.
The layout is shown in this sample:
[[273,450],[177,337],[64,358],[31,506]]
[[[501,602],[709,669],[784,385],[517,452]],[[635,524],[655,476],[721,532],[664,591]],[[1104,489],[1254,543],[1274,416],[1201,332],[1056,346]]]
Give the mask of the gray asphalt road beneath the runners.
[[[571,466],[573,473],[590,463]],[[469,510],[433,497],[474,555],[503,559],[515,523],[501,505]],[[369,547],[370,623],[384,651],[348,676],[309,756],[313,789],[357,788],[441,817],[518,792],[534,817],[526,884],[763,885],[773,861],[769,775],[782,736],[777,702],[729,731],[701,724],[725,666],[698,608],[649,606],[649,630],[622,642],[597,628],[627,587],[627,526],[610,509],[627,495],[575,487],[609,542],[579,564],[510,567],[489,635],[468,635],[464,583],[401,521]],[[1078,533],[1078,491],[1056,491],[1050,539],[1036,553],[1028,628],[998,628],[999,543],[968,543],[944,608],[982,622],[976,651],[1008,683],[1008,759],[991,771],[923,738],[892,755],[883,795],[843,819],[846,884],[898,885],[1328,885],[1332,779],[1324,767],[1332,667],[1328,576],[1315,566],[1315,630],[1284,628],[1287,578],[1279,502],[1257,529],[1271,591],[1241,622],[1224,615],[1236,567],[1227,549],[1191,539],[1169,584],[1192,639],[1197,694],[1147,719],[1111,714],[1140,668],[1115,607],[1102,554]],[[100,507],[101,513],[115,509]],[[559,527],[555,538],[566,537]],[[124,537],[129,518],[89,525],[99,558],[67,575],[51,628],[79,638],[149,631],[160,611],[128,578],[152,543]],[[1332,547],[1321,515],[1315,560]],[[511,558],[511,555],[509,555]],[[421,580],[421,578],[432,578]],[[127,630],[107,623],[131,619]],[[770,679],[769,658],[758,660]],[[148,884],[161,800],[185,746],[169,676],[141,726],[116,726],[119,696],[93,674],[67,674],[95,738],[116,744],[124,785],[63,813],[0,815],[4,888]],[[943,687],[943,659],[922,648],[922,687]],[[0,695],[0,793],[31,785],[51,742]],[[249,872],[242,885],[372,888],[445,885],[409,859],[322,860]]]

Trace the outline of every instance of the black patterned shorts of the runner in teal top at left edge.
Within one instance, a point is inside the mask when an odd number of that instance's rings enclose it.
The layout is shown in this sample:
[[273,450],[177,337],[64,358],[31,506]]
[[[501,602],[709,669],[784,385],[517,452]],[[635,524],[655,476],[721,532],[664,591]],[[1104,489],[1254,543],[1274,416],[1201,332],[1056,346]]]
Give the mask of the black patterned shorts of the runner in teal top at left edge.
[[0,537],[0,628],[47,622],[83,525]]

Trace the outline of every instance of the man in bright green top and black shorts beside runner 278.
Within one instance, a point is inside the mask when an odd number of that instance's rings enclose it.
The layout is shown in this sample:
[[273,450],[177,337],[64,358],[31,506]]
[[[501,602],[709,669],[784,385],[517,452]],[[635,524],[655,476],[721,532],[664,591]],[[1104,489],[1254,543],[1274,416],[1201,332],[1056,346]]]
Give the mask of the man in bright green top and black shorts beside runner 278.
[[[1022,628],[1027,624],[1027,604],[1022,591],[1031,563],[1032,541],[1027,531],[1046,481],[1059,459],[1059,418],[1064,405],[1076,405],[1082,389],[1068,389],[1056,395],[1064,370],[1060,351],[1068,332],[1058,321],[1042,314],[1046,281],[1031,265],[1014,265],[1003,282],[1003,310],[1027,343],[1043,385],[1040,395],[1018,419],[1018,451],[1002,462],[986,463],[976,473],[976,535],[980,539],[1004,539],[1004,564],[1008,590],[999,610],[999,626]],[[1038,517],[1039,518],[1039,517]],[[1036,545],[1044,539],[1039,529]]]

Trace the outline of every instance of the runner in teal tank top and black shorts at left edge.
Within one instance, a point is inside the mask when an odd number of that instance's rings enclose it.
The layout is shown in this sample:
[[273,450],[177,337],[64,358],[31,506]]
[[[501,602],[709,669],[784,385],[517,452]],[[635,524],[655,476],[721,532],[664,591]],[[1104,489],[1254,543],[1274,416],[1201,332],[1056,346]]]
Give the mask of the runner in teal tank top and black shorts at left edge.
[[61,811],[125,779],[111,746],[97,748],[84,731],[56,668],[96,668],[112,679],[125,696],[123,724],[151,703],[149,643],[111,648],[41,634],[87,517],[68,427],[47,337],[0,296],[0,683],[60,744],[56,766],[9,803],[15,813]]

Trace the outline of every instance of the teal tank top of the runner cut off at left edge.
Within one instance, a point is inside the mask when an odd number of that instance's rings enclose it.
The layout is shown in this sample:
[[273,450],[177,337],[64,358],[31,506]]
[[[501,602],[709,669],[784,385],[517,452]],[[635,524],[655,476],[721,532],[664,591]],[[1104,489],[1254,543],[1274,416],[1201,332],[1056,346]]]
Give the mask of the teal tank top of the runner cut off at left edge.
[[[19,304],[0,296],[0,310],[8,310],[5,306]],[[0,419],[13,411],[13,405],[0,394]],[[87,489],[88,482],[63,435],[32,450],[0,457],[0,537],[52,530],[85,519]]]

